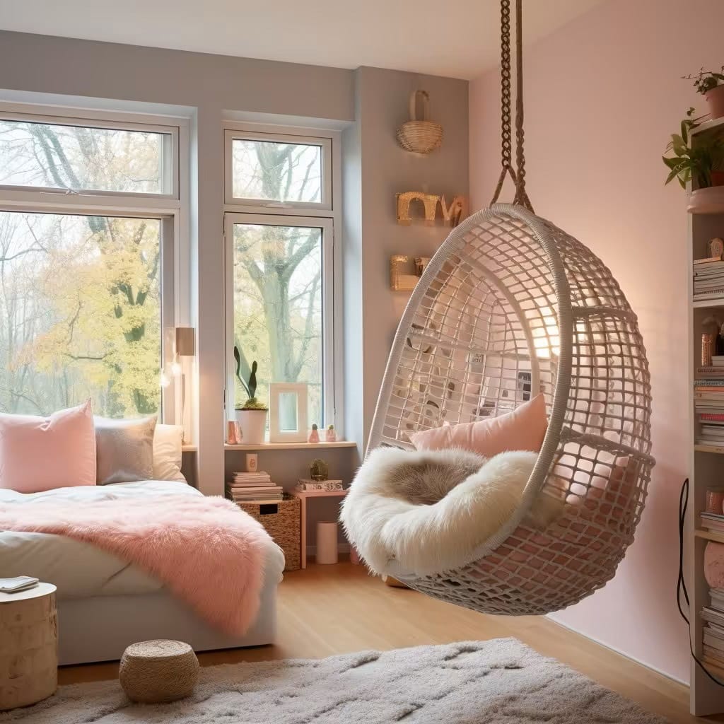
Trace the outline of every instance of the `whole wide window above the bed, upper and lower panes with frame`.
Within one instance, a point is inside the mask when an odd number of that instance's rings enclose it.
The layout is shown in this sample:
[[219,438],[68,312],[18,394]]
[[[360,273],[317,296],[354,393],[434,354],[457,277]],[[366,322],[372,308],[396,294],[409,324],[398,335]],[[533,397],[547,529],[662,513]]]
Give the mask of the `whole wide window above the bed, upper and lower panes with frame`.
[[0,411],[173,413],[178,138],[0,106]]

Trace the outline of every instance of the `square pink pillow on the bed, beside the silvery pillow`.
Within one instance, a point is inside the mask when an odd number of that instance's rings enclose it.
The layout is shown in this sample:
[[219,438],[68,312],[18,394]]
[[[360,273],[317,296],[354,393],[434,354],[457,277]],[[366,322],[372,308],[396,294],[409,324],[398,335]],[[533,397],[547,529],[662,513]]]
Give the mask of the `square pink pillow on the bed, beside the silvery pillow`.
[[37,493],[95,484],[90,400],[50,417],[0,414],[0,488]]

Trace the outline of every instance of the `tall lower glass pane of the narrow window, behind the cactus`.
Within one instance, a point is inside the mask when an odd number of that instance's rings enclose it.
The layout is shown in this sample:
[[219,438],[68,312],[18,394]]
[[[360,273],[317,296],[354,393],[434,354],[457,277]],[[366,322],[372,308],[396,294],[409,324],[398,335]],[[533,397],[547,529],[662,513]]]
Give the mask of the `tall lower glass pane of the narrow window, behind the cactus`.
[[[322,391],[322,233],[316,227],[234,225],[234,344],[240,376],[258,362],[256,395],[269,382],[309,385],[309,424],[324,424]],[[246,399],[235,384],[237,403]],[[285,416],[285,423],[287,418]]]

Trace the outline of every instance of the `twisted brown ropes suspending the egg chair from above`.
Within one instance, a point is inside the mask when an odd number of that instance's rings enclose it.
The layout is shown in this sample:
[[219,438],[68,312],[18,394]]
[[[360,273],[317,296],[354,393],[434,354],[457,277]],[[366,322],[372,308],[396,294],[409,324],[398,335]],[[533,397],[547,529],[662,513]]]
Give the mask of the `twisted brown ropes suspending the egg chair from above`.
[[510,0],[500,0],[500,111],[501,111],[501,152],[500,177],[490,205],[500,197],[505,177],[510,176],[515,184],[513,203],[525,206],[535,213],[526,193],[526,154],[523,151],[525,132],[523,130],[523,0],[515,0],[515,165],[513,168],[513,134],[511,130],[510,79]]

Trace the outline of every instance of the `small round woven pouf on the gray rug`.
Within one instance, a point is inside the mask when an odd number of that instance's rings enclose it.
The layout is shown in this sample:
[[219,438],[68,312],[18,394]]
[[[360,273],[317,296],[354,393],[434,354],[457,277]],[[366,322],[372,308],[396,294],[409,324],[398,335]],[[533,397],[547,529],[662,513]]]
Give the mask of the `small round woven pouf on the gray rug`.
[[118,678],[132,702],[175,702],[193,693],[198,659],[183,641],[140,641],[123,652]]

